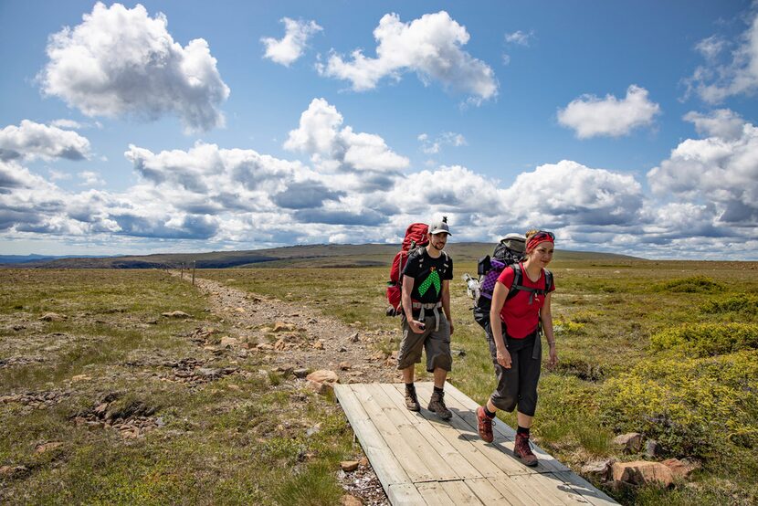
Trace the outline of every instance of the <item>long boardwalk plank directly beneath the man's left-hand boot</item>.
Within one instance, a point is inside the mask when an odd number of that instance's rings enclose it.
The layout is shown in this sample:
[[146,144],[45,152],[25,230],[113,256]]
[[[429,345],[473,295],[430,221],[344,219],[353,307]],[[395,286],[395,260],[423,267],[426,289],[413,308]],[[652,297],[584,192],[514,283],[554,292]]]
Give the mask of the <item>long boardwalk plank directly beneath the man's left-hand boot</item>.
[[[454,469],[457,478],[467,480],[471,478],[481,478],[482,474],[461,454],[458,447],[452,445],[449,440],[439,431],[437,427],[440,424],[432,424],[424,416],[412,413],[405,408],[405,385],[383,384],[380,385],[384,395],[395,403],[397,410],[405,416],[405,419],[421,437],[432,445],[439,456]],[[457,440],[457,438],[456,438]]]

